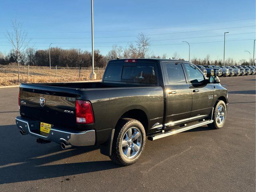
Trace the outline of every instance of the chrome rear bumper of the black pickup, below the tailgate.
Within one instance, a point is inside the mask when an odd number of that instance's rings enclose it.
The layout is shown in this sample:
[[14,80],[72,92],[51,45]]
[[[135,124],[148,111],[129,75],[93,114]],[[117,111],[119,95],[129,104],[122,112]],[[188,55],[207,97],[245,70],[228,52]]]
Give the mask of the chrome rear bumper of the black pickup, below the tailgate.
[[34,137],[47,141],[53,141],[56,143],[65,142],[72,146],[91,146],[95,144],[96,137],[94,130],[80,132],[52,126],[49,134],[46,134],[40,132],[40,122],[21,116],[16,117],[16,125],[20,132],[24,132],[24,135],[30,134]]

